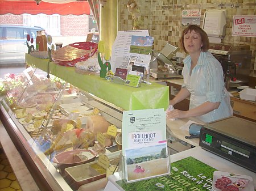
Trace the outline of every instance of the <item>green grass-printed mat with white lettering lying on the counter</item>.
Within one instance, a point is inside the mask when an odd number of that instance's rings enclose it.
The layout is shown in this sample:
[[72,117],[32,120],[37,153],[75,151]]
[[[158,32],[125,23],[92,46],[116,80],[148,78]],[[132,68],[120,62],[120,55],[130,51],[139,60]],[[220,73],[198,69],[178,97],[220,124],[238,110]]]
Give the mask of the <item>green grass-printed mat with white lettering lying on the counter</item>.
[[215,168],[189,156],[171,163],[171,173],[167,176],[148,180],[117,184],[126,191],[211,191]]

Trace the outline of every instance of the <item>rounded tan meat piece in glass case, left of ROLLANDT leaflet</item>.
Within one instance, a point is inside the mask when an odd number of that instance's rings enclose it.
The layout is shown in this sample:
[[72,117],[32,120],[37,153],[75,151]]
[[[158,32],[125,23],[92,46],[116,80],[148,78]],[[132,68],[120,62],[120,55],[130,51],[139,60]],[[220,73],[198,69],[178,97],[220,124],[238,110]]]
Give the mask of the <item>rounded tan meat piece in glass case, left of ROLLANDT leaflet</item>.
[[89,116],[86,123],[86,130],[92,131],[96,139],[97,133],[106,133],[109,125],[109,122],[103,116]]

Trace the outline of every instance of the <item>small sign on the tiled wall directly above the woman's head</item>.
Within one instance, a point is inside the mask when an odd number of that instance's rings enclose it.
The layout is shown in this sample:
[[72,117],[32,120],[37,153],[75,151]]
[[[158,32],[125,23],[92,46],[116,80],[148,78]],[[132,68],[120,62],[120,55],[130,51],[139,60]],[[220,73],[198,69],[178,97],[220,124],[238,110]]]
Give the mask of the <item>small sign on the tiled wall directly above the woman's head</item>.
[[201,9],[189,9],[182,11],[182,26],[188,26],[189,24],[196,24],[200,26]]

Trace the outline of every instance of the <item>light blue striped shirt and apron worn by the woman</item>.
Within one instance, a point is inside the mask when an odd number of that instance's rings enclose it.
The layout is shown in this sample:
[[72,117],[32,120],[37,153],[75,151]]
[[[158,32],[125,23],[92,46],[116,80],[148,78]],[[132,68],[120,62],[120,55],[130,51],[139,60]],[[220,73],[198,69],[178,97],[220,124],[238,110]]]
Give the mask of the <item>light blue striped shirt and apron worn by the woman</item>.
[[187,56],[183,62],[183,87],[186,87],[191,94],[189,109],[198,107],[205,101],[220,102],[218,109],[197,118],[204,122],[210,122],[232,116],[233,109],[230,106],[229,92],[225,88],[220,62],[210,52],[201,52],[191,75],[189,75],[191,57]]

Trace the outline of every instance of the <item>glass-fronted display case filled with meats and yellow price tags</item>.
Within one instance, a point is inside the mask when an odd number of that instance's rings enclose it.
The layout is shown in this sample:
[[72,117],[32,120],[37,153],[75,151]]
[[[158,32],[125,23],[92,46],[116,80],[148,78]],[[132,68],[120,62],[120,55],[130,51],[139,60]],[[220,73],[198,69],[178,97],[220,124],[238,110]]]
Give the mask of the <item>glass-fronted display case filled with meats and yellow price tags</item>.
[[[106,176],[95,162],[99,154],[118,160],[121,147],[106,131],[114,125],[121,132],[122,109],[32,67],[5,83],[1,121],[40,189],[79,190]],[[105,145],[97,133],[104,134]],[[77,165],[89,172],[74,170]]]

